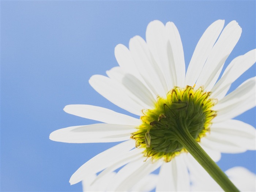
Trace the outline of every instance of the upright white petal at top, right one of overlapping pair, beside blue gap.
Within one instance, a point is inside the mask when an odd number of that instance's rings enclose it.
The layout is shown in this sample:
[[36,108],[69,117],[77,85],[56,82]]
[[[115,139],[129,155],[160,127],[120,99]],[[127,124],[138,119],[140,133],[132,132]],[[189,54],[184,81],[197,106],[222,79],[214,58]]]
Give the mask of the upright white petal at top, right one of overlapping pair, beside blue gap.
[[[176,72],[177,84],[174,84],[174,86],[184,87],[185,60],[180,34],[173,22],[167,22],[165,25],[165,29],[167,38],[169,39],[169,44],[167,46],[167,49],[169,50],[168,54],[173,57],[175,65],[174,68]],[[172,61],[170,61],[170,63],[172,63]]]

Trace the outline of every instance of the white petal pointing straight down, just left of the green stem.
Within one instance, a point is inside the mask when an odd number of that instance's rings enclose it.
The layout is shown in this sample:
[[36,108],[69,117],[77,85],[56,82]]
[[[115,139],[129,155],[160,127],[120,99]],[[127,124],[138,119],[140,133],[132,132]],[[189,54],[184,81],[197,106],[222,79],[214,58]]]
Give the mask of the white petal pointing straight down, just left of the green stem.
[[180,154],[160,168],[156,191],[189,191],[190,181],[186,162],[187,154]]

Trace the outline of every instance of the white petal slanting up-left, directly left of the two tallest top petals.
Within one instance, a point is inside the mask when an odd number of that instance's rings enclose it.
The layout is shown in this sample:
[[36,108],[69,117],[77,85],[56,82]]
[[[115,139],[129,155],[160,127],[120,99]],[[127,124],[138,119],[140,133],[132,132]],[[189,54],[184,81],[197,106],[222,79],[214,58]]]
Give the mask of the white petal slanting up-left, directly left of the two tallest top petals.
[[166,95],[167,85],[159,66],[155,63],[146,42],[139,36],[129,41],[129,49],[141,76],[155,95]]

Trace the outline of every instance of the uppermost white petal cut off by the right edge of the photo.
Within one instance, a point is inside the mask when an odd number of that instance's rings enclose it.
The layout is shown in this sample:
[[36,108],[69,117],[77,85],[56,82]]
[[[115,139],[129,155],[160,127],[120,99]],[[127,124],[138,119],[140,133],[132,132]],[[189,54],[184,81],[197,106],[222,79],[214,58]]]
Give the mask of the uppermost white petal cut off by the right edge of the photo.
[[240,75],[249,69],[256,62],[256,49],[253,49],[242,56],[236,57],[225,69],[221,79],[212,88],[211,97],[222,99],[231,83],[233,83]]

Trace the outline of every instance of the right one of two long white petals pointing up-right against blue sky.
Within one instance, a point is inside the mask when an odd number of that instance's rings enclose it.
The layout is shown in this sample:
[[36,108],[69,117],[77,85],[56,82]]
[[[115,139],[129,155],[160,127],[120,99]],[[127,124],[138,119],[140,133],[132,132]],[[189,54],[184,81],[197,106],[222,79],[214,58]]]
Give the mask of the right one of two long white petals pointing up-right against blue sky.
[[236,21],[231,21],[227,24],[212,48],[202,72],[197,79],[196,86],[204,86],[206,90],[212,89],[227,57],[237,44],[241,33],[242,29]]

